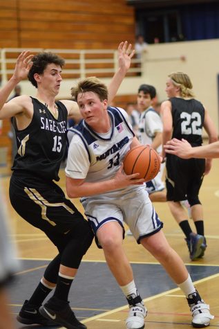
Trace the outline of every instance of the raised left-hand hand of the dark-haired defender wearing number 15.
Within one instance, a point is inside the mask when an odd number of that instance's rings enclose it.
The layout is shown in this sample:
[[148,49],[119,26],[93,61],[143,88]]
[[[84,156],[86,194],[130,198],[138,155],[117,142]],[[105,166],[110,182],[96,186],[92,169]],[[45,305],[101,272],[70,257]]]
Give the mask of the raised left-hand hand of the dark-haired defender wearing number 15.
[[20,81],[27,77],[28,72],[32,67],[32,57],[33,55],[30,55],[30,51],[22,51],[19,57],[17,57],[13,78]]

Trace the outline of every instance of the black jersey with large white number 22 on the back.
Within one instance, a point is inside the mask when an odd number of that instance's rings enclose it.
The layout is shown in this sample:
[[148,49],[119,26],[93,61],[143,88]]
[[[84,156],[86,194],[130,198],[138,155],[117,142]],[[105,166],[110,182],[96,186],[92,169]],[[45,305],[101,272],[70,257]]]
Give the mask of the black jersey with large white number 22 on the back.
[[202,127],[204,124],[204,107],[195,99],[173,97],[172,105],[173,135],[172,138],[186,139],[193,146],[202,145]]

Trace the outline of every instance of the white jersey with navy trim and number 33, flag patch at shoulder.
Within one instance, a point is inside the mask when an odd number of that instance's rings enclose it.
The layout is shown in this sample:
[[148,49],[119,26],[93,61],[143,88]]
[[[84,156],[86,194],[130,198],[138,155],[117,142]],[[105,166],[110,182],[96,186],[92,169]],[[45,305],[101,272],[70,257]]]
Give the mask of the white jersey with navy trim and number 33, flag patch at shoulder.
[[[94,132],[84,120],[81,121],[79,125],[68,130],[68,141],[71,141],[68,158],[72,158],[68,159],[69,161],[67,162],[66,175],[68,177],[86,177],[85,181],[89,182],[105,181],[106,179],[115,177],[126,153],[130,150],[131,142],[135,136],[123,115],[123,111],[124,110],[116,107],[108,107],[108,115],[111,118],[112,129],[106,136]],[[80,151],[80,154],[82,154],[80,158],[81,166],[76,166],[75,164],[72,143],[75,143],[75,150],[79,147],[83,148]],[[86,157],[84,156],[84,152],[86,152]],[[79,152],[77,154],[79,154]],[[83,158],[84,161],[86,161],[86,159],[88,161],[84,167],[82,163]],[[80,170],[81,172],[79,172]],[[87,172],[85,172],[86,170]],[[130,187],[124,190],[129,188]],[[133,186],[131,188],[133,188]],[[108,193],[115,194],[115,192],[112,191]],[[90,198],[92,197],[89,197],[89,199]]]

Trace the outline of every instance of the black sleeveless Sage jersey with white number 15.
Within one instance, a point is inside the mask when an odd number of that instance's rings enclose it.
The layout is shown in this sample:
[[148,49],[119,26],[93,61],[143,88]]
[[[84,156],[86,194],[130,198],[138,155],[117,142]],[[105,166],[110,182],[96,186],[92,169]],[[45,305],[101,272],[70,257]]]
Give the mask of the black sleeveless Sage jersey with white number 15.
[[32,104],[32,121],[26,129],[17,130],[13,120],[18,151],[12,170],[58,181],[59,167],[66,152],[68,111],[61,102],[57,102],[56,119],[36,98],[32,98]]

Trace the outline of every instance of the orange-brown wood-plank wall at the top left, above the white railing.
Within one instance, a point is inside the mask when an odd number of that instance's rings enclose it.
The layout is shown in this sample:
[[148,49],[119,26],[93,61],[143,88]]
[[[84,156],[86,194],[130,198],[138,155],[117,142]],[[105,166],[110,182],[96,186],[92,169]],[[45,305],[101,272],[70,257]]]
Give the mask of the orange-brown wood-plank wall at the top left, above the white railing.
[[0,48],[115,48],[134,42],[126,0],[0,0]]

